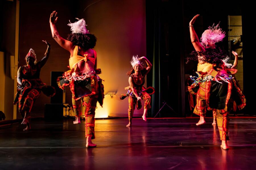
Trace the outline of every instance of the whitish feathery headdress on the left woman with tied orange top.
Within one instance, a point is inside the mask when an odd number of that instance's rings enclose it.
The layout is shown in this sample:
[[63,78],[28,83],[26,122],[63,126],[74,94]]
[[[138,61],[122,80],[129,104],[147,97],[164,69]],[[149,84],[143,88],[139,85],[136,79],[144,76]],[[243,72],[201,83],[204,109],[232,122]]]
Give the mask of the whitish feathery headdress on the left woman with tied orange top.
[[89,31],[86,29],[86,24],[85,24],[85,20],[84,19],[79,19],[76,18],[78,21],[71,23],[69,20],[69,25],[71,28],[70,30],[72,31],[72,33],[76,33],[76,34],[88,34]]

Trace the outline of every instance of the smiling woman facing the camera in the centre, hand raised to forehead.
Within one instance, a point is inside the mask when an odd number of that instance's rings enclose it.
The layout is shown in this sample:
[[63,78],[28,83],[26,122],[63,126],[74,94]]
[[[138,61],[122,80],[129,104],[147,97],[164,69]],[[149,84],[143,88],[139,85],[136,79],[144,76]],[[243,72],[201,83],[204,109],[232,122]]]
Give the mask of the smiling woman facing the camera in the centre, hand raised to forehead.
[[[144,59],[147,63],[147,67],[143,68],[141,65],[140,60]],[[146,121],[146,113],[148,109],[150,109],[150,101],[151,97],[146,92],[146,88],[143,87],[143,84],[145,82],[145,76],[150,71],[152,64],[149,62],[149,60],[146,57],[138,58],[138,56],[133,56],[131,60],[131,65],[133,68],[131,71],[127,73],[129,76],[129,87],[128,87],[128,102],[129,102],[129,109],[128,109],[128,118],[129,118],[129,124],[126,125],[127,127],[131,126],[132,118],[133,118],[133,112],[135,109],[135,103],[137,103],[137,109],[141,108],[140,100],[143,99],[145,101],[144,103],[144,112],[142,119]],[[132,92],[132,93],[131,93]],[[151,93],[152,94],[152,93]],[[121,99],[121,97],[120,97]]]

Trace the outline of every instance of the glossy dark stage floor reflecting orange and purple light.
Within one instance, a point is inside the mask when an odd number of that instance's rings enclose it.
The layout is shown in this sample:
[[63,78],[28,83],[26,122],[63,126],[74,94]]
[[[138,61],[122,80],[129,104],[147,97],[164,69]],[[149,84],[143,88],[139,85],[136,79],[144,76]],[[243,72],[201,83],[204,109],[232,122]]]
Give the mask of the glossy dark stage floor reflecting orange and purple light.
[[212,118],[96,120],[96,148],[85,148],[84,121],[32,121],[0,127],[0,169],[256,169],[256,118],[231,118],[220,148]]

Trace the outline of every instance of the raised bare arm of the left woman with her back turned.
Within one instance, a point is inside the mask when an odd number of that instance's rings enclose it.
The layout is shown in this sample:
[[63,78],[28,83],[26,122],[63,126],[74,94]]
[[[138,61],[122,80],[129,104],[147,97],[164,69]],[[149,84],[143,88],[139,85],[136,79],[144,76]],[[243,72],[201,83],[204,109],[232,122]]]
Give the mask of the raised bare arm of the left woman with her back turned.
[[58,20],[58,17],[57,17],[57,12],[56,11],[53,11],[51,13],[51,16],[50,16],[50,27],[51,27],[51,35],[53,37],[53,39],[62,47],[64,48],[65,50],[68,50],[70,53],[73,51],[73,43],[62,38],[60,35],[59,35],[59,32],[57,31],[57,28],[56,28],[56,25],[55,23],[57,22]]

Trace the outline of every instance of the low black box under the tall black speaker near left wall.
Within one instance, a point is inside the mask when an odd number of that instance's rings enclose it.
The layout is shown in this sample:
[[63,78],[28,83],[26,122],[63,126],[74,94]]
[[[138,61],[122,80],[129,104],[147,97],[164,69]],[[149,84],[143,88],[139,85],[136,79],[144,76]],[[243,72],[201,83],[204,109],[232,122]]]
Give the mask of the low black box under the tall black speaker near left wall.
[[63,104],[45,104],[44,119],[45,120],[62,120]]

